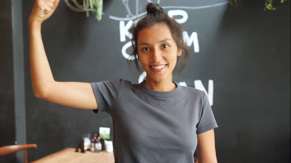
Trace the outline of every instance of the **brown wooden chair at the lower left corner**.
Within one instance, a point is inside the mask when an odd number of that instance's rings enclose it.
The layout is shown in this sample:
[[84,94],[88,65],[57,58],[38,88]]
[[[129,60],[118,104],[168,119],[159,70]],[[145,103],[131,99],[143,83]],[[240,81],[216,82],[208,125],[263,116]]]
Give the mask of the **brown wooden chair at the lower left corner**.
[[0,147],[0,156],[9,155],[24,150],[24,163],[27,163],[27,149],[37,148],[36,144],[6,145]]

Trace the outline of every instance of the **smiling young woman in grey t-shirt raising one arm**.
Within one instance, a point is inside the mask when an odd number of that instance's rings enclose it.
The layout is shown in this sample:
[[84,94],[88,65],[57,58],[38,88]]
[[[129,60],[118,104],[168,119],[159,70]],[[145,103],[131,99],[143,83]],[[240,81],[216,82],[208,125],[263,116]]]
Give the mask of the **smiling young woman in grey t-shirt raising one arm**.
[[177,59],[188,60],[182,27],[156,3],[131,28],[135,63],[146,80],[55,81],[44,51],[40,27],[59,0],[36,0],[29,19],[30,64],[34,94],[79,109],[106,111],[113,121],[115,163],[217,163],[214,128],[218,125],[203,91],[172,81]]

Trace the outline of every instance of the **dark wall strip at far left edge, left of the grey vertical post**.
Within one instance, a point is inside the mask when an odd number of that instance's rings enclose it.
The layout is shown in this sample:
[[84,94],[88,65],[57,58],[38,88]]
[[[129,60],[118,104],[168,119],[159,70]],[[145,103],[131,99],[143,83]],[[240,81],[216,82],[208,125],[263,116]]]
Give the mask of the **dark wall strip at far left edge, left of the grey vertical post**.
[[[15,142],[11,1],[0,5],[0,146]],[[16,154],[0,157],[0,163],[13,163]]]

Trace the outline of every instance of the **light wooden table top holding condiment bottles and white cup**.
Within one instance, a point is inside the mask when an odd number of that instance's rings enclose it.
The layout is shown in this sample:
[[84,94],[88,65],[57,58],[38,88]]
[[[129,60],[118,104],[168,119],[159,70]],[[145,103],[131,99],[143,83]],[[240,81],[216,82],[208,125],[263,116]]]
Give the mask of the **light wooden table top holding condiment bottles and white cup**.
[[66,148],[32,163],[114,163],[114,155],[106,151],[80,153],[75,148]]

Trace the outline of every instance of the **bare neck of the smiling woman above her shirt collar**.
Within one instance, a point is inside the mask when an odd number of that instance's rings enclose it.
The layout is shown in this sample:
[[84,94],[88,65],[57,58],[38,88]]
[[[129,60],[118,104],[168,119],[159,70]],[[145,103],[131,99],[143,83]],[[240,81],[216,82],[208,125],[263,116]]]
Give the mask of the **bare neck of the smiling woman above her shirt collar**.
[[176,89],[176,84],[172,82],[172,79],[156,82],[146,78],[145,85],[146,87],[159,92],[168,92]]

